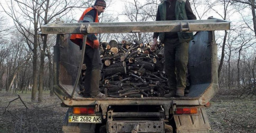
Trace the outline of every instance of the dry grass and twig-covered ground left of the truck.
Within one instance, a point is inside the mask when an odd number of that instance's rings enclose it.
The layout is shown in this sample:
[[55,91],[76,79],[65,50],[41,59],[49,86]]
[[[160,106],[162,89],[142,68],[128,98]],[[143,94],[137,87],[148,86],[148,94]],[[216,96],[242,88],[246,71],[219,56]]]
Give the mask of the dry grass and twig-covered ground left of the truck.
[[20,97],[27,108],[20,99],[8,106],[18,98],[17,94],[0,93],[1,133],[61,132],[67,108],[60,107],[61,101],[56,96],[49,97],[49,93],[44,92],[43,102],[30,102],[31,94],[20,94]]

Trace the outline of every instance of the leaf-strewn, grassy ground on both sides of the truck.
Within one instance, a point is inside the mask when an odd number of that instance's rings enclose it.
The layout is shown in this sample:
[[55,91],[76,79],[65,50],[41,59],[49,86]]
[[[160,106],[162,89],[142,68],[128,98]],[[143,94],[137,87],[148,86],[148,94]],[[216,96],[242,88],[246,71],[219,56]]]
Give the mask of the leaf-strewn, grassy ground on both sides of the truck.
[[[60,107],[57,96],[44,91],[43,102],[30,102],[31,93],[0,91],[0,133],[61,133],[67,108]],[[211,133],[256,133],[256,98],[216,94],[207,108]],[[7,107],[8,106],[8,107]],[[6,108],[7,107],[7,108]]]

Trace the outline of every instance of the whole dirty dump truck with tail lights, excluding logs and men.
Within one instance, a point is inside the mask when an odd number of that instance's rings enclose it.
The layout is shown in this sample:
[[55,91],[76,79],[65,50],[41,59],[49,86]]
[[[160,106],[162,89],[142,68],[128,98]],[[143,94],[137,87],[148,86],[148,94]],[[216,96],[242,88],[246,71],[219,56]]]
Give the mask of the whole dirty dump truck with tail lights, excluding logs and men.
[[[205,108],[218,90],[217,44],[214,31],[229,30],[230,21],[145,21],[124,23],[55,23],[41,26],[57,34],[54,46],[54,93],[68,111],[64,133],[209,133]],[[189,44],[190,87],[187,97],[84,98],[79,87],[85,46],[80,50],[70,34],[196,32]],[[85,43],[83,43],[85,44]]]

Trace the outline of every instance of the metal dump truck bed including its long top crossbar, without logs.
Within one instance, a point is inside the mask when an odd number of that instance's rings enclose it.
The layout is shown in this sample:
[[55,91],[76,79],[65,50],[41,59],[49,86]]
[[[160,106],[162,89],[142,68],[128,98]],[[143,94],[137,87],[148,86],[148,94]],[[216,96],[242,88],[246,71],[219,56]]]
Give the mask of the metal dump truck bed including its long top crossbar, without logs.
[[[218,89],[217,44],[214,30],[229,30],[230,22],[210,17],[208,20],[177,20],[128,23],[53,23],[42,26],[42,34],[58,34],[54,46],[54,92],[67,106],[80,105],[205,105]],[[76,87],[72,95],[82,50],[69,40],[69,33],[192,32],[188,71],[190,87],[184,98],[83,98]],[[74,92],[74,91],[73,91]],[[171,105],[172,105],[171,104]]]

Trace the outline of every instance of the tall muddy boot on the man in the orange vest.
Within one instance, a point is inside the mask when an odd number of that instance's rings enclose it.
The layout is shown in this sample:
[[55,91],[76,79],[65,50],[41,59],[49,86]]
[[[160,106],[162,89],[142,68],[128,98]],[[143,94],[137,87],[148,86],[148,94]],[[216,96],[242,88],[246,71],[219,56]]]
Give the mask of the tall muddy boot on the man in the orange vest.
[[92,97],[96,97],[96,98],[105,97],[105,94],[102,94],[99,91],[100,72],[101,72],[101,70],[99,70],[99,69],[93,69],[91,71],[89,94]]

